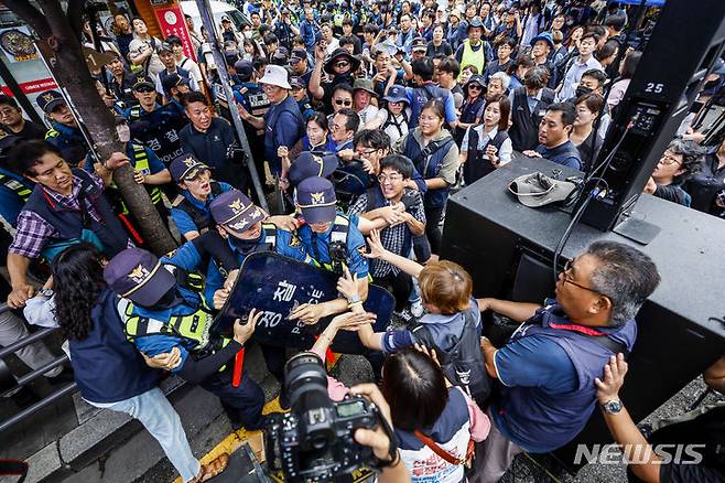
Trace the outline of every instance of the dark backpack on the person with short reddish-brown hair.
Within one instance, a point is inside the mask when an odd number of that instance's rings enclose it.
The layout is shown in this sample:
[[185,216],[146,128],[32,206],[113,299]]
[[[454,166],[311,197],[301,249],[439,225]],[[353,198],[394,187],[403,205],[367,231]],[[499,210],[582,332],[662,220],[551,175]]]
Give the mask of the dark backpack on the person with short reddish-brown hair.
[[467,310],[463,316],[463,332],[459,337],[451,336],[453,345],[447,351],[437,347],[425,324],[418,325],[412,332],[420,343],[436,348],[443,374],[451,384],[461,386],[480,407],[486,407],[493,384],[480,352],[475,312]]

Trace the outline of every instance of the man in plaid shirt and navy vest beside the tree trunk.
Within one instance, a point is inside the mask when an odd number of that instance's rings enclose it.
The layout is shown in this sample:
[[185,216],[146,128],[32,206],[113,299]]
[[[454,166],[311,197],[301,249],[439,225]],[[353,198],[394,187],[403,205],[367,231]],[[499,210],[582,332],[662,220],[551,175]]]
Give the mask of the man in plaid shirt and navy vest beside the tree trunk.
[[[40,140],[14,146],[9,159],[13,171],[35,183],[18,215],[15,238],[8,253],[13,289],[8,297],[10,307],[24,305],[34,293],[26,277],[33,259],[43,256],[53,260],[68,245],[82,240],[93,243],[109,257],[132,245],[104,194],[101,176],[72,169],[57,148]],[[112,171],[128,162],[126,154],[115,152],[100,169]]]

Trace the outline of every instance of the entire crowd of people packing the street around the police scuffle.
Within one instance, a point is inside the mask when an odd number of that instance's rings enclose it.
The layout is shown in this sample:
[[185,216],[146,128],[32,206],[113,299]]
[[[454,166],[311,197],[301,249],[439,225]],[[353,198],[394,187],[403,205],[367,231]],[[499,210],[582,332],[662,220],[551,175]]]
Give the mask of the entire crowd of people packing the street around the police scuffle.
[[[617,354],[632,348],[635,315],[660,281],[652,260],[595,243],[561,272],[555,298],[534,304],[474,299],[465,268],[439,255],[453,190],[520,155],[585,173],[596,165],[649,24],[630,25],[624,8],[603,1],[239,8],[249,23],[224,17],[217,32],[231,99],[208,32],[191,17],[195,60],[180,37],[156,39],[143,19],[115,15],[101,32],[113,58],[91,72],[123,146],[109,159],[95,157],[59,92],[37,98],[50,129],[0,96],[8,304],[30,323],[59,326],[69,343],[73,371],[45,376],[73,377],[89,404],[138,418],[184,481],[213,477],[228,455],[199,464],[158,384],[175,374],[218,396],[235,429],[264,428],[259,385],[246,374],[230,384],[234,355],[255,343],[262,313],[238,321],[230,337],[209,328],[245,258],[273,251],[339,277],[336,299],[299,305],[289,320],[316,328],[332,318],[307,347],[323,359],[338,331],[357,332],[380,389],[329,378],[328,390],[336,400],[367,395],[390,420],[397,451],[381,430],[356,432],[379,458],[381,481],[498,481],[516,454],[573,440],[597,407],[615,438],[626,427],[643,441],[617,396],[626,373]],[[94,32],[83,35],[95,45]],[[724,80],[718,66],[711,96]],[[645,192],[725,216],[725,140],[707,150],[705,139],[683,125]],[[174,253],[148,250],[112,181],[128,163],[178,236]],[[283,201],[274,213],[255,201],[250,169]],[[389,289],[404,329],[371,329],[369,283]],[[489,312],[520,324],[498,347],[483,336]],[[0,344],[28,335],[15,314],[0,316]],[[258,344],[283,382],[284,345]],[[19,355],[33,368],[51,357],[42,344]],[[711,371],[722,387],[723,364]],[[635,473],[723,474],[707,463],[660,466]]]

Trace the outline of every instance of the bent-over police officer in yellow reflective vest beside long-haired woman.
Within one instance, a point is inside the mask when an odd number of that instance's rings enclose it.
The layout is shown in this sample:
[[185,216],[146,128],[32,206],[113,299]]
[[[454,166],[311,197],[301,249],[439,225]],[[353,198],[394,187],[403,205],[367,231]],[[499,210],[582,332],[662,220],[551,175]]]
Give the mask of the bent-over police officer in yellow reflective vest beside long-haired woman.
[[129,248],[111,259],[104,278],[122,297],[118,311],[127,337],[139,351],[149,357],[180,351],[173,374],[218,396],[235,429],[261,429],[261,387],[247,374],[238,387],[231,384],[231,359],[253,334],[261,312],[252,311],[245,324],[237,320],[232,339],[209,334],[214,315],[202,294],[201,278],[193,272],[203,257],[196,242],[161,260]]

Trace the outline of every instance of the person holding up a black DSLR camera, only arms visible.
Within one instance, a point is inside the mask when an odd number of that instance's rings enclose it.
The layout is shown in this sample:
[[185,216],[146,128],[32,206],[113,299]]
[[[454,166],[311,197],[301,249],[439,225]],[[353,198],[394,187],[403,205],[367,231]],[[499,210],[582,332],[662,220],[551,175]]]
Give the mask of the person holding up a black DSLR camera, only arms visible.
[[[310,352],[288,362],[283,390],[291,411],[270,417],[264,432],[272,472],[282,470],[286,479],[327,481],[368,466],[380,472],[381,483],[411,481],[401,464],[390,427],[390,407],[380,389],[375,384],[348,389],[327,376],[322,362],[339,330],[357,331],[374,321],[375,314],[361,311],[361,307],[360,311],[339,314]],[[314,415],[314,423],[306,422],[309,415]]]

